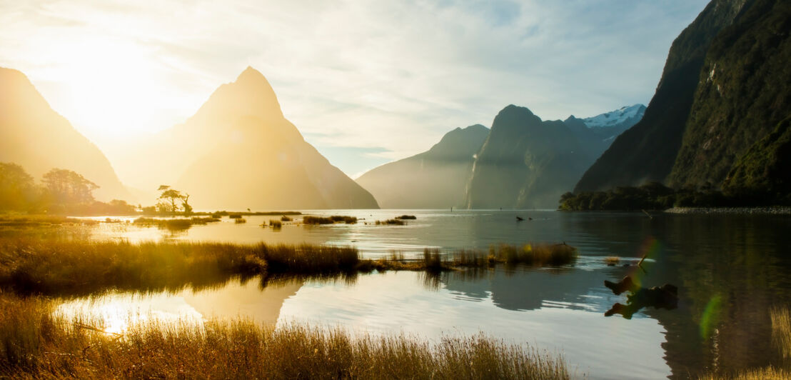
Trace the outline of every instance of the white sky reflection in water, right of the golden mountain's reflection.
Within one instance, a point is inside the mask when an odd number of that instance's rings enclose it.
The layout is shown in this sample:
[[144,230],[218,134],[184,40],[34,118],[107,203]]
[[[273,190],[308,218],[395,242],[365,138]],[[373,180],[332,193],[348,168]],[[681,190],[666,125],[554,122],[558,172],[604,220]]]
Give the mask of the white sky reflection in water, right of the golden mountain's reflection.
[[[491,291],[483,297],[473,297],[475,302],[464,302],[471,297],[451,291],[446,285],[426,291],[419,276],[415,272],[388,272],[361,276],[354,285],[306,283],[297,295],[283,303],[278,323],[296,320],[340,324],[434,340],[448,333],[483,331],[532,347],[558,350],[573,367],[592,378],[662,378],[669,374],[660,346],[664,329],[653,319],[607,318],[600,311],[590,311],[600,310],[601,306],[552,299],[539,302],[534,310],[509,310],[497,305],[497,294]],[[561,285],[567,280],[558,276],[546,285]],[[500,279],[490,281],[482,284],[482,290]],[[528,289],[513,292],[532,298]],[[511,298],[516,300],[519,295]]]

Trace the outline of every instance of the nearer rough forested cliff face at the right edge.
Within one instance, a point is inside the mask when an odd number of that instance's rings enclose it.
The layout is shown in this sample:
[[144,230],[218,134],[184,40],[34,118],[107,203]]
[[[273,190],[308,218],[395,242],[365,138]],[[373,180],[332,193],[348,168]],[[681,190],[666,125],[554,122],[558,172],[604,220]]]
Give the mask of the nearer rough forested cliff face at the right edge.
[[[759,0],[748,2],[713,40],[668,184],[719,185],[733,176],[744,178],[740,173],[747,168],[759,182],[791,176],[787,160],[756,161],[788,151],[787,140],[785,148],[777,144],[787,136],[791,117],[789,31],[791,2]],[[755,177],[759,170],[765,171],[763,179]],[[740,191],[734,179],[728,187]]]

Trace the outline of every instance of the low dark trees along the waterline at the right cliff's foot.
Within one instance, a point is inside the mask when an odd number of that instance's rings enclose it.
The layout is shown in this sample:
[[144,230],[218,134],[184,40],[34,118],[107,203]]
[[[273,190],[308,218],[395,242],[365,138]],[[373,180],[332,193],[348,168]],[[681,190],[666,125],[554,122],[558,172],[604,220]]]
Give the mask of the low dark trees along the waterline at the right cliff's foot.
[[732,199],[710,186],[701,189],[686,187],[674,190],[649,182],[639,188],[623,187],[607,192],[566,192],[560,198],[564,211],[640,211],[666,210],[670,207],[721,207],[739,206]]

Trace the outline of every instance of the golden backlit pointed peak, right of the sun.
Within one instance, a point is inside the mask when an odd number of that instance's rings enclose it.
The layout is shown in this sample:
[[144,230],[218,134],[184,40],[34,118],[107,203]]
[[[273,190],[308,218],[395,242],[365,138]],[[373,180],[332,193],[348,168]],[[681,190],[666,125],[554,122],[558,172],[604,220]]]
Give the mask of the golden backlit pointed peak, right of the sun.
[[378,208],[283,116],[263,74],[248,67],[220,86],[184,124],[142,153],[159,184],[202,209]]

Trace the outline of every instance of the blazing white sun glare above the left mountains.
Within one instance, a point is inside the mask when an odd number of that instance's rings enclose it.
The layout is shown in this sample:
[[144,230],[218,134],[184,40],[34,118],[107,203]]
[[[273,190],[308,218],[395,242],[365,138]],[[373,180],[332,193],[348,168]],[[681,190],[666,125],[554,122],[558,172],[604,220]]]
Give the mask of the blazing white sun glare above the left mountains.
[[[169,90],[157,72],[156,51],[130,40],[89,36],[47,51],[59,63],[47,70],[66,95],[53,105],[75,127],[104,135],[156,129],[156,116],[168,107]],[[55,79],[57,78],[57,79]],[[63,109],[63,111],[60,110]]]

